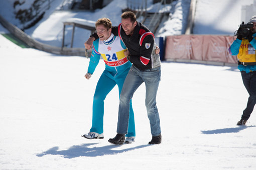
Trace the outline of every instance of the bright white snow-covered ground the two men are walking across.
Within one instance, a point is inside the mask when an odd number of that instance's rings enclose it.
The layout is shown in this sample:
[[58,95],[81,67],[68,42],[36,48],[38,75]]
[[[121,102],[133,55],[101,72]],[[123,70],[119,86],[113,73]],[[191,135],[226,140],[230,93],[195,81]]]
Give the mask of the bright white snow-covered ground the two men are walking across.
[[[42,24],[32,29],[51,30]],[[8,33],[2,25],[0,32]],[[117,87],[105,99],[104,139],[80,136],[91,126],[102,60],[87,80],[89,58],[21,48],[3,35],[0,51],[0,169],[256,169],[255,111],[236,125],[248,97],[236,67],[162,62],[162,143],[148,144],[143,84],[133,97],[136,141],[113,145]]]

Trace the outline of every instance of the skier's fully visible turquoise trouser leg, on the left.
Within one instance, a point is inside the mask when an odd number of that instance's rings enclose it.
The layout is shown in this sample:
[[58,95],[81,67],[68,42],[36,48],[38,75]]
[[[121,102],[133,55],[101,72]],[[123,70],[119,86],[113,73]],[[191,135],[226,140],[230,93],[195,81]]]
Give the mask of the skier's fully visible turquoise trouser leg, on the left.
[[99,134],[103,133],[104,99],[116,84],[116,82],[106,74],[107,71],[104,70],[97,82],[93,96],[92,126],[90,131]]

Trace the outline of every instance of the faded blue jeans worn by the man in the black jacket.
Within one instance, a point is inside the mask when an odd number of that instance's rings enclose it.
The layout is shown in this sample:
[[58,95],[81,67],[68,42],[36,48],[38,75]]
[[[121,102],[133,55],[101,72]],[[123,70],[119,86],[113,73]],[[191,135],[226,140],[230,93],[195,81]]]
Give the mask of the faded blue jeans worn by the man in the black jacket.
[[160,118],[157,109],[157,90],[161,77],[161,67],[140,70],[132,65],[127,74],[120,94],[117,133],[126,134],[129,122],[130,100],[137,88],[145,82],[148,117],[150,120],[151,134],[157,136],[161,133]]

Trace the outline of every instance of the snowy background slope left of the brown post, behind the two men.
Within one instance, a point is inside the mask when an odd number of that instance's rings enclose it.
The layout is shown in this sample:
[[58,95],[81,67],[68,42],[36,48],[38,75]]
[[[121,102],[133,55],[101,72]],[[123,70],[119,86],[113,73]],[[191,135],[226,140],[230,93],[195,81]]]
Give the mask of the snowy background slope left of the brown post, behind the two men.
[[[0,14],[8,19],[11,23],[18,27],[23,27],[18,19],[15,18],[12,3],[14,0],[0,1]],[[149,12],[155,12],[159,7],[159,3],[153,4],[153,0],[148,0]],[[71,11],[71,10],[56,10],[60,8],[62,0],[54,0],[51,3],[50,9],[46,10],[44,17],[33,27],[25,29],[25,32],[35,38],[36,40],[47,43],[53,46],[61,46],[63,38],[63,22],[70,18],[81,18],[96,21],[100,17],[108,17],[112,21],[112,25],[120,23],[121,9],[126,8],[126,1],[113,0],[104,8],[96,9],[95,12],[91,11]],[[161,12],[174,11],[170,14],[172,18],[171,24],[169,22],[162,22],[160,25],[159,33],[156,36],[165,36],[170,34],[181,34],[185,32],[185,25],[187,22],[187,13],[189,11],[190,0],[177,0],[171,5],[161,5]],[[2,10],[3,8],[3,10]],[[26,6],[24,6],[26,8]],[[27,6],[28,8],[28,6]],[[113,10],[114,9],[114,10]],[[184,10],[184,11],[183,11]],[[165,25],[165,26],[164,26]],[[72,35],[72,26],[67,26],[65,32],[65,46],[70,47]],[[90,31],[76,27],[73,47],[84,47],[84,41],[89,37]]]

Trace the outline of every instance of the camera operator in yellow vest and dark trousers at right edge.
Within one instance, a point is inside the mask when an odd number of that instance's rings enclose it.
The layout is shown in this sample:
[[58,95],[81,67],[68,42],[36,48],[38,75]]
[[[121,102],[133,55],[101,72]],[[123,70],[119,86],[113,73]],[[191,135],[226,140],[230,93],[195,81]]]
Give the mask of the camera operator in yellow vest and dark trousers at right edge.
[[237,125],[246,123],[256,103],[256,15],[252,16],[249,22],[251,22],[251,26],[246,27],[248,23],[240,25],[237,38],[229,47],[229,53],[237,55],[238,69],[241,72],[243,84],[249,93],[247,106]]

